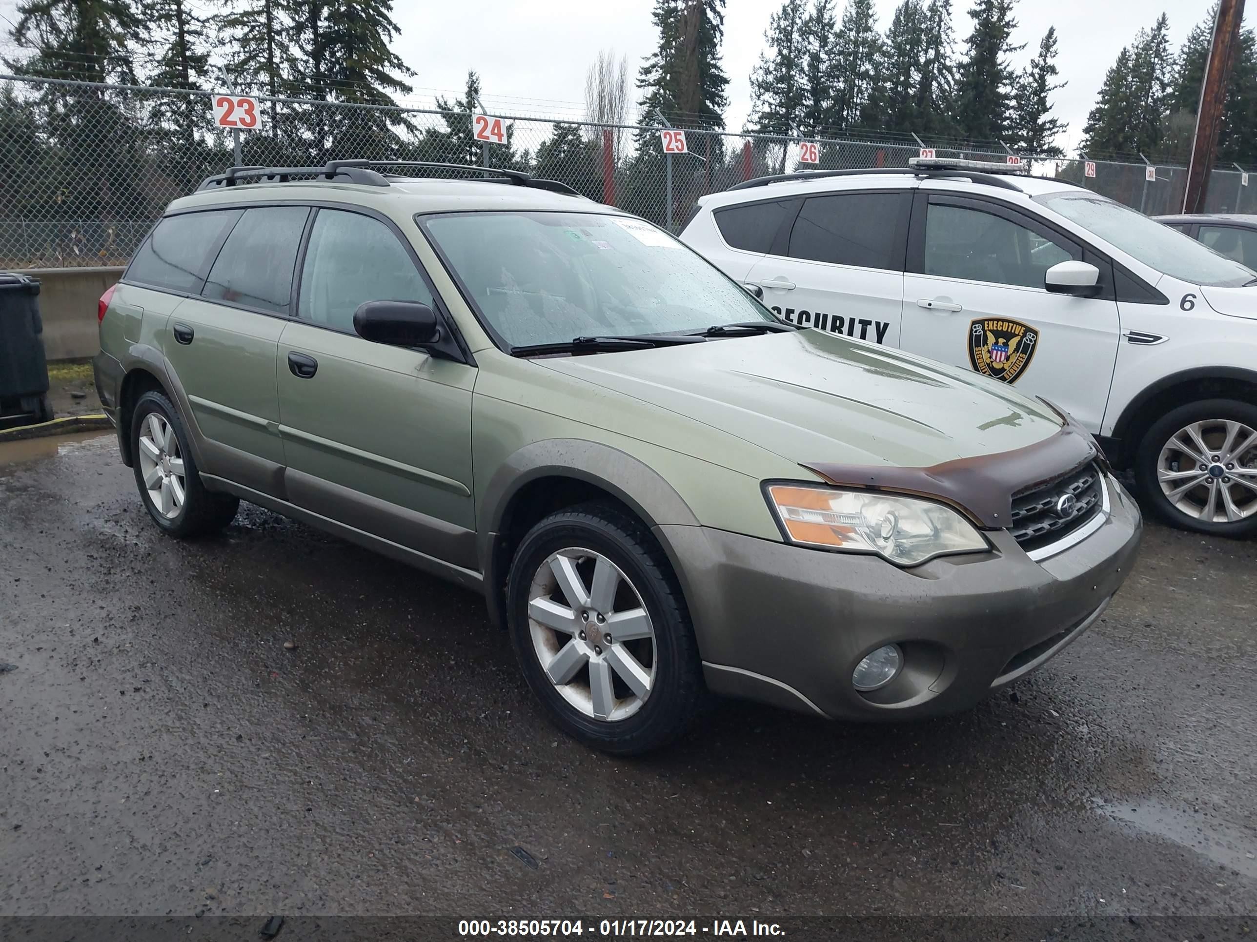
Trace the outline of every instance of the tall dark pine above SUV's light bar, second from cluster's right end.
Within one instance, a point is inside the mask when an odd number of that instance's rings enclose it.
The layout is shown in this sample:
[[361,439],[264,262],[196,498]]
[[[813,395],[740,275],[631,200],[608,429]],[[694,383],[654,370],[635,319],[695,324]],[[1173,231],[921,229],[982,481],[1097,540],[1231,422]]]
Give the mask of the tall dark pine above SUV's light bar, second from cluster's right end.
[[1013,45],[1017,0],[978,0],[969,16],[973,33],[957,80],[955,119],[970,141],[999,141],[1008,133],[1014,73],[1008,57]]

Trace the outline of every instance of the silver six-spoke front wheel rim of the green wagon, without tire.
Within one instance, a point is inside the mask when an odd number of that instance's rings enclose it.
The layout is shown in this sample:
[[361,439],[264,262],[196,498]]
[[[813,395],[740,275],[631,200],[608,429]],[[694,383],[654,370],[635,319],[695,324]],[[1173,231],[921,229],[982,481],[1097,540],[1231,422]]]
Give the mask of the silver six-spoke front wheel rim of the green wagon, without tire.
[[641,594],[610,559],[568,548],[538,566],[528,590],[533,652],[549,682],[595,720],[636,713],[655,683],[655,627]]

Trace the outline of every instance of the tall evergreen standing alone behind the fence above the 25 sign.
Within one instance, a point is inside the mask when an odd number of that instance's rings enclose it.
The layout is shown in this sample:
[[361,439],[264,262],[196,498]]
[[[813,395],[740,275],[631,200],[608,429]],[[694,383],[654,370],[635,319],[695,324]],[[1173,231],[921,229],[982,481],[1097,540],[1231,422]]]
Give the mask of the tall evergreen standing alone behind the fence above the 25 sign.
[[659,43],[637,73],[642,114],[651,122],[661,114],[678,127],[723,128],[724,0],[655,0],[651,23]]

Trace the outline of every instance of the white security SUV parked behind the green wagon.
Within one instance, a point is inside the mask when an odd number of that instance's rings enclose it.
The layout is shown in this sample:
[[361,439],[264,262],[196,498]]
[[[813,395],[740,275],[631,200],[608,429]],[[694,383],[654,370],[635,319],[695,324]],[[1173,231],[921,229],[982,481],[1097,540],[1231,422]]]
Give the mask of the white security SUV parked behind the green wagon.
[[914,165],[750,180],[681,240],[786,320],[1067,409],[1166,521],[1257,533],[1257,273],[1063,181]]

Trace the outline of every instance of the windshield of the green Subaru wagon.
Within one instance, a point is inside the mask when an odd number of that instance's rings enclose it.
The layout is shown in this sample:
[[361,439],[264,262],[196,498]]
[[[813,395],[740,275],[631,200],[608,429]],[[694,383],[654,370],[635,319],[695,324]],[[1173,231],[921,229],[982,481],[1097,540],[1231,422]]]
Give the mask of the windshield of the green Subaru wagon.
[[464,212],[419,222],[510,347],[776,323],[714,265],[641,220]]

